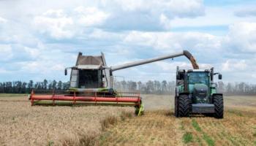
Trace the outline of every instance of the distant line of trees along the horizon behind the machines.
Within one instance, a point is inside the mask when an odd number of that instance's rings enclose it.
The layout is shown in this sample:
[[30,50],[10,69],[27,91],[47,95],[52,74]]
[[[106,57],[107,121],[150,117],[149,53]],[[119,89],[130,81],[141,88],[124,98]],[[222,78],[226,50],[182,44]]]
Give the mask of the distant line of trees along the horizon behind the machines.
[[[35,90],[61,90],[69,88],[69,82],[56,80],[43,80],[42,82],[13,81],[0,82],[0,93],[31,93]],[[145,94],[174,94],[176,89],[175,81],[148,80],[147,82],[115,81],[114,88],[117,91],[140,92]],[[246,82],[217,82],[217,89],[226,95],[256,95],[256,85]]]

